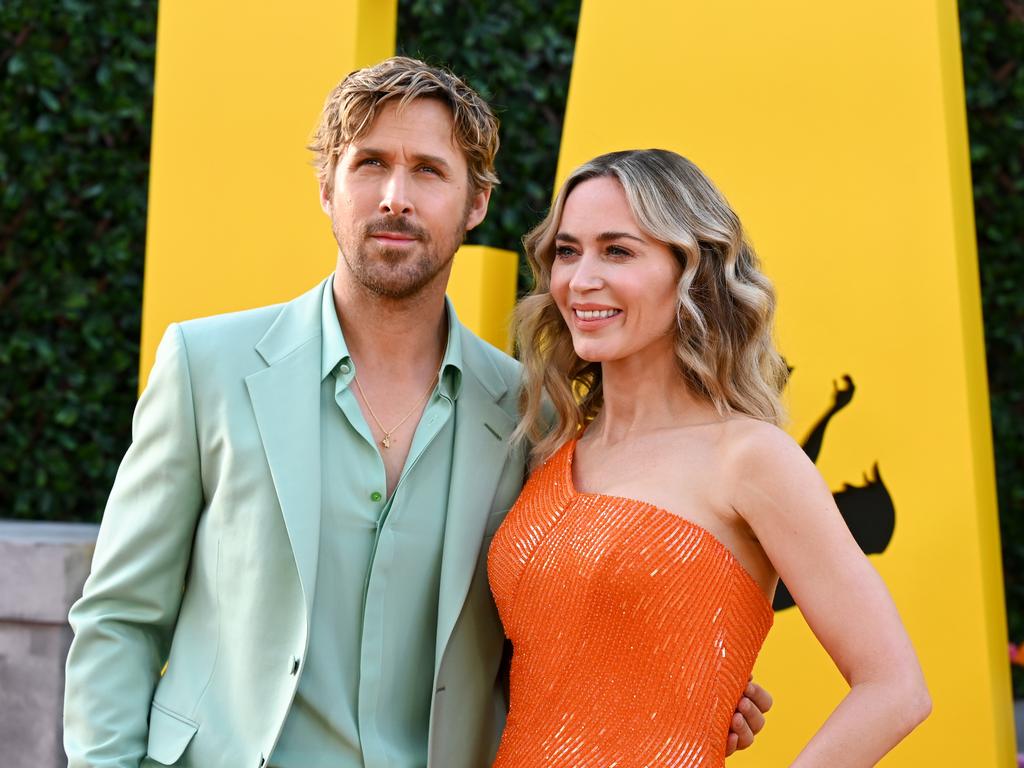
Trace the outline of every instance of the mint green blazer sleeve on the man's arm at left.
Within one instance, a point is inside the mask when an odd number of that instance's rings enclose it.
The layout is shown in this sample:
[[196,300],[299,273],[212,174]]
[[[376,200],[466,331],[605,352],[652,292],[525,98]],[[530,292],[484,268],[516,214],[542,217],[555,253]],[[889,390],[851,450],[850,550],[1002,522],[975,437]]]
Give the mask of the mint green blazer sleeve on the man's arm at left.
[[69,621],[69,768],[137,768],[203,507],[196,409],[181,329],[164,335],[103,511],[92,570]]

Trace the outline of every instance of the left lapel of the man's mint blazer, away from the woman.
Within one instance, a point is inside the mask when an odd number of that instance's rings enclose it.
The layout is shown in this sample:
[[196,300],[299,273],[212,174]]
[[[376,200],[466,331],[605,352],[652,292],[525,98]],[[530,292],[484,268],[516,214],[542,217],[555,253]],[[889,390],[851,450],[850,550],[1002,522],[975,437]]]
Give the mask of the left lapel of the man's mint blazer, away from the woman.
[[246,377],[306,607],[321,524],[321,302],[324,283],[286,304],[256,345],[267,368]]

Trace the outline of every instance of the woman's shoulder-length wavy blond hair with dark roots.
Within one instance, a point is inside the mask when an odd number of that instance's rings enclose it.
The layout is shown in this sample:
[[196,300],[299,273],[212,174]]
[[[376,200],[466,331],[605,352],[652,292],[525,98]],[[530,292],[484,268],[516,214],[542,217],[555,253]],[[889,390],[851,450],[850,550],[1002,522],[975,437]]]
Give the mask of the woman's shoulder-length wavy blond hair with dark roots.
[[515,310],[524,368],[515,435],[532,443],[534,465],[572,438],[603,402],[601,365],[577,355],[550,293],[565,201],[581,183],[602,176],[618,180],[640,228],[679,259],[675,352],[682,381],[723,418],[745,414],[779,424],[787,372],[772,343],[775,294],[739,217],[686,158],[666,150],[615,152],[577,168],[544,221],[523,238],[535,288]]

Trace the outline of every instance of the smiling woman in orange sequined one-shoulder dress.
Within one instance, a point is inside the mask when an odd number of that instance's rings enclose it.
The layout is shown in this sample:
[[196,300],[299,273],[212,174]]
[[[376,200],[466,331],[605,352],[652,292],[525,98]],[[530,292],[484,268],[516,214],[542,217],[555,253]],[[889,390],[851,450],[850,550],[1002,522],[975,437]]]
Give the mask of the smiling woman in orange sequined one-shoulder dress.
[[613,153],[525,245],[536,470],[488,559],[513,644],[496,767],[723,765],[779,575],[851,685],[793,765],[873,765],[931,705],[885,586],[776,426],[774,295],[736,215],[684,158]]

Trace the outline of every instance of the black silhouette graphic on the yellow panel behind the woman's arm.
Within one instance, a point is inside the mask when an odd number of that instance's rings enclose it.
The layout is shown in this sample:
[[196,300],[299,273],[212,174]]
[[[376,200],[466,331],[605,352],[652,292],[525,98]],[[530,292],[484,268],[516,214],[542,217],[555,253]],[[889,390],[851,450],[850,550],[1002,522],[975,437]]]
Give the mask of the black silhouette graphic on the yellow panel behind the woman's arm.
[[[803,443],[804,453],[814,463],[817,463],[818,454],[821,453],[821,443],[828,422],[853,400],[855,387],[849,375],[843,377],[842,384],[834,382],[833,387],[831,408],[818,420]],[[878,463],[871,467],[869,474],[864,473],[862,485],[845,483],[842,490],[833,493],[833,498],[850,532],[864,553],[877,555],[885,552],[896,527],[896,510],[889,489],[882,480]],[[792,608],[793,605],[790,590],[780,581],[778,589],[775,590],[772,607],[775,610],[784,610]]]

